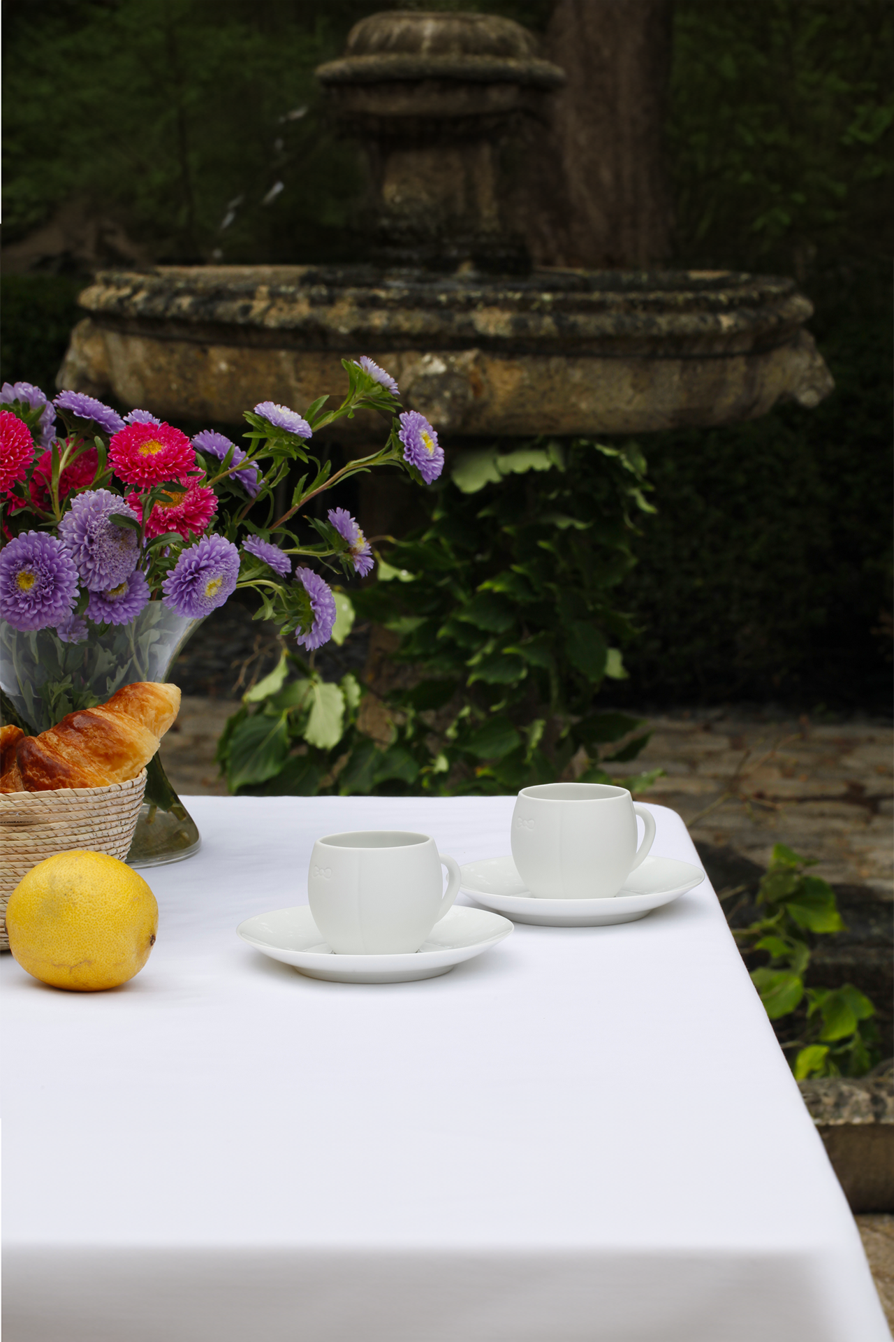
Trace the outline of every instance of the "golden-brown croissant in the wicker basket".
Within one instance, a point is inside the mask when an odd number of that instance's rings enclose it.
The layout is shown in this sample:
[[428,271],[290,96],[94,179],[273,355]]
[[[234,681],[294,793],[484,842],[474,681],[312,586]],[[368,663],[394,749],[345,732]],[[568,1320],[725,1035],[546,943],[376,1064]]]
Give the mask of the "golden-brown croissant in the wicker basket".
[[176,684],[137,680],[95,709],[70,713],[39,737],[0,730],[0,792],[105,788],[135,778],[180,710]]

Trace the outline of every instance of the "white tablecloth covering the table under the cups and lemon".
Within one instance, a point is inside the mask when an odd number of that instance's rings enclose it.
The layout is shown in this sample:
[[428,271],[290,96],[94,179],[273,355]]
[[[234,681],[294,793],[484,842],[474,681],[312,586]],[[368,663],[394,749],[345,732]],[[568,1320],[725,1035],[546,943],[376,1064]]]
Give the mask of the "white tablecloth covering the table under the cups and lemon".
[[[883,1342],[854,1221],[705,883],[318,982],[235,935],[312,840],[508,851],[512,797],[188,798],[117,992],[3,957],[4,1342]],[[654,852],[697,860],[654,808]]]

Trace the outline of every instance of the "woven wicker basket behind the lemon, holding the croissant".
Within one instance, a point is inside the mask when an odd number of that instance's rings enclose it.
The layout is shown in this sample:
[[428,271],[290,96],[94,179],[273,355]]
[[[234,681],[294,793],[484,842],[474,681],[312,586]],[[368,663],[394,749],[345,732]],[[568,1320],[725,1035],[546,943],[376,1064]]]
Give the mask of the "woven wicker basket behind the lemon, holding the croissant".
[[9,949],[7,903],[25,871],[72,848],[123,860],[145,788],[143,769],[135,778],[107,788],[0,792],[0,950]]

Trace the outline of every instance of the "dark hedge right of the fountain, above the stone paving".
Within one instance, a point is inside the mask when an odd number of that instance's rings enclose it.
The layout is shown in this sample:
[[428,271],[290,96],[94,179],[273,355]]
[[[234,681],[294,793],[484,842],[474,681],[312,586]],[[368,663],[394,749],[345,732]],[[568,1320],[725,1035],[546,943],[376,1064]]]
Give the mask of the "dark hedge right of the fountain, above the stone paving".
[[836,384],[816,409],[642,439],[658,515],[619,595],[643,631],[626,654],[637,702],[890,711],[886,271],[815,285]]

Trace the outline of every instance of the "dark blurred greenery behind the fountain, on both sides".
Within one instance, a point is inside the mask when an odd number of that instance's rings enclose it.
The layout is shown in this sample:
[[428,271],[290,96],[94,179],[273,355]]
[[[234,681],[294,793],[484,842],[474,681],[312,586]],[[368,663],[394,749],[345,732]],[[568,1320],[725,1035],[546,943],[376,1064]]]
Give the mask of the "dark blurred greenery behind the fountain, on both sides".
[[[548,16],[548,0],[411,7]],[[9,255],[78,208],[145,260],[362,256],[362,168],[312,71],[373,9],[5,0]],[[621,588],[642,632],[615,702],[890,711],[891,68],[890,0],[677,0],[674,264],[795,274],[836,392],[639,442],[658,514]],[[52,384],[83,271],[63,252],[4,275],[4,378]]]

